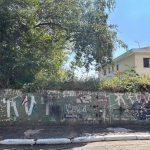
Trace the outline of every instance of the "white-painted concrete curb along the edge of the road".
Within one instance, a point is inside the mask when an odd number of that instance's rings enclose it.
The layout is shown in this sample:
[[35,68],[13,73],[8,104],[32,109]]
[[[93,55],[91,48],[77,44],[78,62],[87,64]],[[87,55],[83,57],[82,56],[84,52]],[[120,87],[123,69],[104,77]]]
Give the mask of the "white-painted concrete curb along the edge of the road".
[[104,136],[85,136],[76,138],[49,138],[49,139],[5,139],[0,144],[5,145],[34,145],[34,144],[69,144],[100,141],[121,141],[121,140],[150,140],[150,134],[147,135],[104,135]]

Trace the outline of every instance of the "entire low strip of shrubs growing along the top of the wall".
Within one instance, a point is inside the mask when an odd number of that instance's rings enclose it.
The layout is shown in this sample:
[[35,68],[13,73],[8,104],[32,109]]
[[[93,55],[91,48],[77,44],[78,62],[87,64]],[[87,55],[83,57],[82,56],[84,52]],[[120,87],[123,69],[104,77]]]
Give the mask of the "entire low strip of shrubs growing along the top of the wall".
[[[129,67],[129,66],[128,66]],[[119,72],[111,79],[98,78],[77,79],[70,71],[63,78],[36,80],[32,84],[24,85],[24,90],[89,90],[109,92],[150,92],[150,76],[139,76],[134,67],[125,72]]]

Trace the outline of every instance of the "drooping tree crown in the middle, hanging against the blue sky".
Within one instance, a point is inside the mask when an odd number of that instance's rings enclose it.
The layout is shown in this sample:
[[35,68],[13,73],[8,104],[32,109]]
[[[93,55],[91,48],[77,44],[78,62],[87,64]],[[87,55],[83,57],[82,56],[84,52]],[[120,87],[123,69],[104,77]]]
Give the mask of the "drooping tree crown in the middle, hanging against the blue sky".
[[111,63],[117,45],[127,46],[117,38],[117,26],[107,23],[115,0],[45,0],[37,10],[37,25],[63,33],[75,52],[73,65],[95,69]]

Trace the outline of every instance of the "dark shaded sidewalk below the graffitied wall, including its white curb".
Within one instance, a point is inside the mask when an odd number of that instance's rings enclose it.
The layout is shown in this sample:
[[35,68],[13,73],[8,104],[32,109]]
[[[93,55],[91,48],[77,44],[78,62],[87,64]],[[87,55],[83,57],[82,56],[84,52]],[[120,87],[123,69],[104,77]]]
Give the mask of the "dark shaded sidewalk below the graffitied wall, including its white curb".
[[[51,142],[54,142],[54,144],[55,141],[59,140],[56,143],[60,144],[62,140],[66,143],[72,143],[92,142],[95,140],[128,140],[128,138],[130,140],[150,139],[150,127],[144,125],[120,127],[102,125],[0,127],[0,144],[3,144],[2,141],[5,139],[22,139],[22,141],[32,139],[34,143],[39,139],[44,141],[51,139]],[[52,144],[51,142],[50,144]]]

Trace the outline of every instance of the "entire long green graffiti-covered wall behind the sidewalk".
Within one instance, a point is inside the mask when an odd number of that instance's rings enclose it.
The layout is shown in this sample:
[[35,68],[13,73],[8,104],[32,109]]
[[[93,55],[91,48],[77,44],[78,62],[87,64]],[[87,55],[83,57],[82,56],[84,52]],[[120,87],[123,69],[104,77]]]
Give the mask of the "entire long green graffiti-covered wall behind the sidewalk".
[[150,124],[150,94],[0,90],[0,126]]

